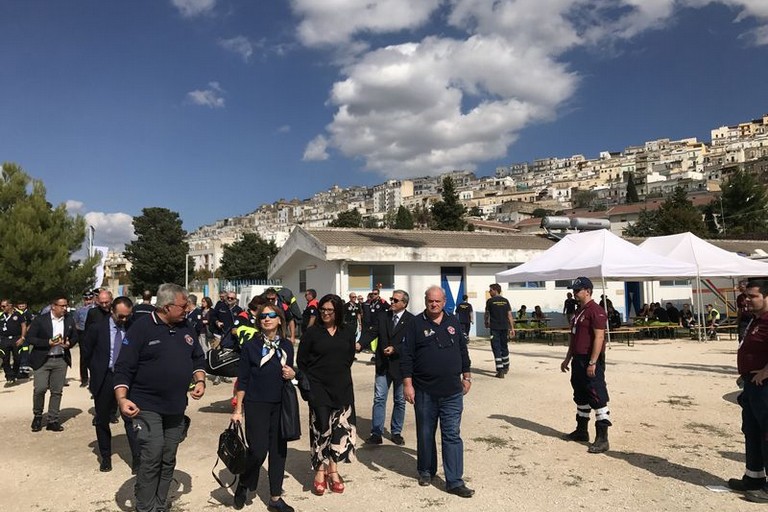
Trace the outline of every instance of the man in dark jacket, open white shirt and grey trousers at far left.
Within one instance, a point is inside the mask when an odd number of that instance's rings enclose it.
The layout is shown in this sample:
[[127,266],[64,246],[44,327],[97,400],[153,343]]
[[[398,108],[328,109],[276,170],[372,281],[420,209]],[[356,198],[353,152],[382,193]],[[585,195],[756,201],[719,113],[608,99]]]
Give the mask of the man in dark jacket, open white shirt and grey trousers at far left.
[[51,303],[50,313],[36,317],[27,330],[27,341],[32,346],[30,365],[35,372],[32,432],[43,428],[46,391],[51,392],[46,429],[53,432],[64,430],[59,423],[59,408],[67,367],[72,366],[69,347],[77,342],[75,320],[67,314],[68,306],[66,296],[57,296]]

